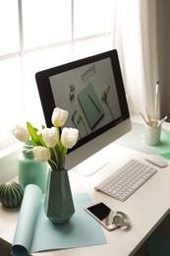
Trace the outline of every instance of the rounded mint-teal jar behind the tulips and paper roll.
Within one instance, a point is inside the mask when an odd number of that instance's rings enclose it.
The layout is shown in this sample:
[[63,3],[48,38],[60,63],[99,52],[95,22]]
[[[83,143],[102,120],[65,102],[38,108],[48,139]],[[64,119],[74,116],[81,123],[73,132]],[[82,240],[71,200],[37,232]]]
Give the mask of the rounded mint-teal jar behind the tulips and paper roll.
[[44,193],[46,191],[48,177],[47,162],[34,160],[33,153],[31,151],[26,152],[26,150],[31,149],[32,146],[30,144],[24,144],[23,152],[19,156],[19,184],[23,190],[28,184],[35,184],[42,190],[42,193]]

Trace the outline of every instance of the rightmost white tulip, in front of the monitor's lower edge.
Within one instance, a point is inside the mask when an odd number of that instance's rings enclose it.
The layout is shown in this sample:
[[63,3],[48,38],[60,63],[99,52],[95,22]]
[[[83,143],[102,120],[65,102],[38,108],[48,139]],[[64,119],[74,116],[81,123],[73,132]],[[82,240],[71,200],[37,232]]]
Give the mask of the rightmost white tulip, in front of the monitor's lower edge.
[[76,128],[63,128],[61,143],[66,149],[72,149],[78,141],[79,131]]

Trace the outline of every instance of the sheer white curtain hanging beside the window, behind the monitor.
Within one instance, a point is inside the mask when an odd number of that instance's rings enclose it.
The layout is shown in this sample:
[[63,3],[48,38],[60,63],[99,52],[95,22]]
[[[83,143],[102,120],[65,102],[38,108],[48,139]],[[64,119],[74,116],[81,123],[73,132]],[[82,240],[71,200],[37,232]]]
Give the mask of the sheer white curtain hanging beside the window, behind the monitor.
[[159,81],[156,2],[117,0],[114,42],[120,56],[130,112],[145,115],[146,106],[152,117],[156,82]]

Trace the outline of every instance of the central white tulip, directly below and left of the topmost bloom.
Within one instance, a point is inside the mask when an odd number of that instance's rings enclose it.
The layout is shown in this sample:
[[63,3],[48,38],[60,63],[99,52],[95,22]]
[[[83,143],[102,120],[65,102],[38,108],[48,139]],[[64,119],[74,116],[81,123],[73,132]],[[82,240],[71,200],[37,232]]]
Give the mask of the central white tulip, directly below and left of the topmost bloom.
[[42,130],[42,139],[48,148],[55,147],[59,141],[56,127],[44,128]]

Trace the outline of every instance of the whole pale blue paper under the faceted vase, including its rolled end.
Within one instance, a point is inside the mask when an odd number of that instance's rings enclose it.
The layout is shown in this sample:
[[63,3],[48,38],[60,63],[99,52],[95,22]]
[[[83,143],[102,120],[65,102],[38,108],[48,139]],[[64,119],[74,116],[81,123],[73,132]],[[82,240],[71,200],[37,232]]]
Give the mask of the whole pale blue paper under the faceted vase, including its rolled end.
[[87,193],[75,194],[76,213],[67,224],[52,224],[43,210],[41,190],[28,185],[12,245],[13,256],[107,243],[102,227],[85,212]]

